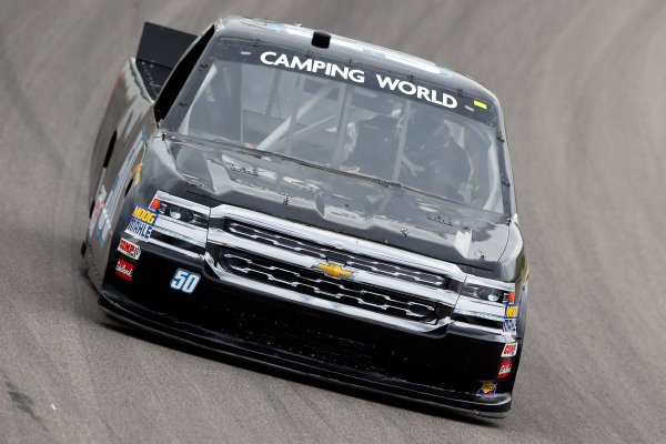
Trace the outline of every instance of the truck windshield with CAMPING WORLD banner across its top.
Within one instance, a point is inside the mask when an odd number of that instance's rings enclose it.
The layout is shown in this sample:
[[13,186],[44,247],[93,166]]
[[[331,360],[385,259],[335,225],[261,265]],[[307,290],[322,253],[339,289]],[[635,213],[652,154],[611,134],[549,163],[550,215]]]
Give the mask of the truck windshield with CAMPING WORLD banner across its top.
[[222,41],[167,128],[503,213],[497,111],[349,61]]

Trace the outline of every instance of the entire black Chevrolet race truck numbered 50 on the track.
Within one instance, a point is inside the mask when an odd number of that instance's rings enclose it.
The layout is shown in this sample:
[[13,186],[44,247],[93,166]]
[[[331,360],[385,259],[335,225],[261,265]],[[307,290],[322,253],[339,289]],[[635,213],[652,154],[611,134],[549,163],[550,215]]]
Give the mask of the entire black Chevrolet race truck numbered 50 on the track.
[[506,416],[528,266],[478,81],[240,17],[145,23],[82,248],[104,312],[309,377]]

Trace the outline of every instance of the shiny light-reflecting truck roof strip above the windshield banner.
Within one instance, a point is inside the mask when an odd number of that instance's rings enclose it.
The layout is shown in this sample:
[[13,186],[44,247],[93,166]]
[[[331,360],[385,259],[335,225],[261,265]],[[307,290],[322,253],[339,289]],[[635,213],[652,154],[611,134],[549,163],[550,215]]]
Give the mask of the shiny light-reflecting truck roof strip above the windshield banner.
[[312,54],[349,60],[354,64],[373,67],[405,78],[413,77],[450,90],[462,90],[466,94],[490,101],[500,109],[495,94],[466,74],[428,60],[335,34],[331,34],[329,48],[317,48],[312,44],[313,32],[315,31],[300,26],[239,16],[225,17],[215,23],[218,38],[259,40],[303,52],[310,51]]

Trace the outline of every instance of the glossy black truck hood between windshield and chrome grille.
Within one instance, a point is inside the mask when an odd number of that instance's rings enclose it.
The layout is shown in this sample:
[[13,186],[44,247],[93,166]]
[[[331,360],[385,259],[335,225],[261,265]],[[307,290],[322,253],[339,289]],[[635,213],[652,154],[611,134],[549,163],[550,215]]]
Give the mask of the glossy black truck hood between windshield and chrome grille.
[[188,191],[220,203],[453,262],[467,272],[496,271],[508,241],[505,214],[266,152],[189,139],[165,143]]

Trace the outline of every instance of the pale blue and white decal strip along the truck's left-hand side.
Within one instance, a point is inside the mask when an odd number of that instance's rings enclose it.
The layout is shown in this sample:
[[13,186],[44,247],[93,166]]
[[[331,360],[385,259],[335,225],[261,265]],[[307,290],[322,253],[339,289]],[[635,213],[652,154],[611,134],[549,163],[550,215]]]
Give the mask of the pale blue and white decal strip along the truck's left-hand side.
[[[131,113],[129,113],[131,114]],[[124,186],[132,173],[132,163],[139,153],[139,149],[145,144],[148,140],[148,134],[145,133],[145,125],[142,127],[141,133],[134,140],[128,157],[123,161],[120,170],[118,171],[118,175],[115,176],[115,181],[111,185],[111,190],[109,191],[109,195],[107,199],[102,199],[102,203],[100,205],[100,210],[97,212],[93,218],[91,218],[92,226],[94,226],[94,233],[100,238],[100,246],[104,246],[104,242],[109,236],[109,232],[111,231],[111,216],[115,213],[118,209],[118,204],[121,199],[121,190],[124,190]],[[94,222],[93,222],[94,221]],[[92,233],[91,233],[92,234]]]

